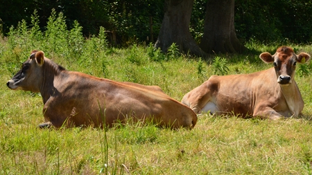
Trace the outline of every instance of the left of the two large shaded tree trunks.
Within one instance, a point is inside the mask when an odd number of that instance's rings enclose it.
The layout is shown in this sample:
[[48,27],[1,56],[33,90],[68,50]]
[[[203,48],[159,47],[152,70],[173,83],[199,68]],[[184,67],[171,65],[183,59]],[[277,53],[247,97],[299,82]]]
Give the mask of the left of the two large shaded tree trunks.
[[155,47],[166,53],[175,43],[181,53],[205,55],[189,32],[193,0],[166,0],[164,6],[164,19]]

